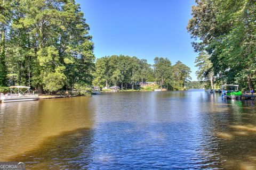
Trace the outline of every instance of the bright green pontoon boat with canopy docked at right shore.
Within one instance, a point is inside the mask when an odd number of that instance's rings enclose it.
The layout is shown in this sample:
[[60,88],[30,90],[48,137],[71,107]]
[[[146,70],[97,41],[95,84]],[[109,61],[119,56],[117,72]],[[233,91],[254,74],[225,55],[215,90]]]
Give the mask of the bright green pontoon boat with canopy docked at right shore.
[[225,84],[221,86],[222,98],[239,98],[242,96],[242,91],[238,90],[239,86],[235,84]]

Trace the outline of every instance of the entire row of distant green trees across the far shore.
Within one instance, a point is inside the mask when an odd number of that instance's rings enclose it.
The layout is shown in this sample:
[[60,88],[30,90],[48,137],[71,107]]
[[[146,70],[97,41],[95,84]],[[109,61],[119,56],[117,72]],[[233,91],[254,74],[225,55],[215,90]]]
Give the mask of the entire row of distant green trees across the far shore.
[[156,57],[153,65],[147,60],[124,55],[99,58],[95,63],[95,86],[120,86],[134,89],[140,82],[157,82],[161,88],[182,89],[190,81],[190,68],[178,61],[172,65],[168,58]]

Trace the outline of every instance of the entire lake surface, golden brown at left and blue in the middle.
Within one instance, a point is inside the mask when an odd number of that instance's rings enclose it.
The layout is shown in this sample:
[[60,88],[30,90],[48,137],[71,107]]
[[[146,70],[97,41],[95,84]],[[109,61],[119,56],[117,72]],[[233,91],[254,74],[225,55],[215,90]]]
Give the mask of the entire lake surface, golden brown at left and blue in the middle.
[[0,161],[27,169],[256,169],[254,101],[203,90],[0,104]]

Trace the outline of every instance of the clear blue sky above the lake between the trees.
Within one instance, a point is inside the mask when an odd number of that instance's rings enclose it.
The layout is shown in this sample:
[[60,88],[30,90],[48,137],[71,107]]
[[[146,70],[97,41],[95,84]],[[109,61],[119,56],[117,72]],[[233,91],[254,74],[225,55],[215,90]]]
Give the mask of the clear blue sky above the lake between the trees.
[[186,26],[191,18],[193,0],[76,0],[81,4],[97,58],[129,55],[145,58],[167,57],[191,68],[197,54],[191,47]]

